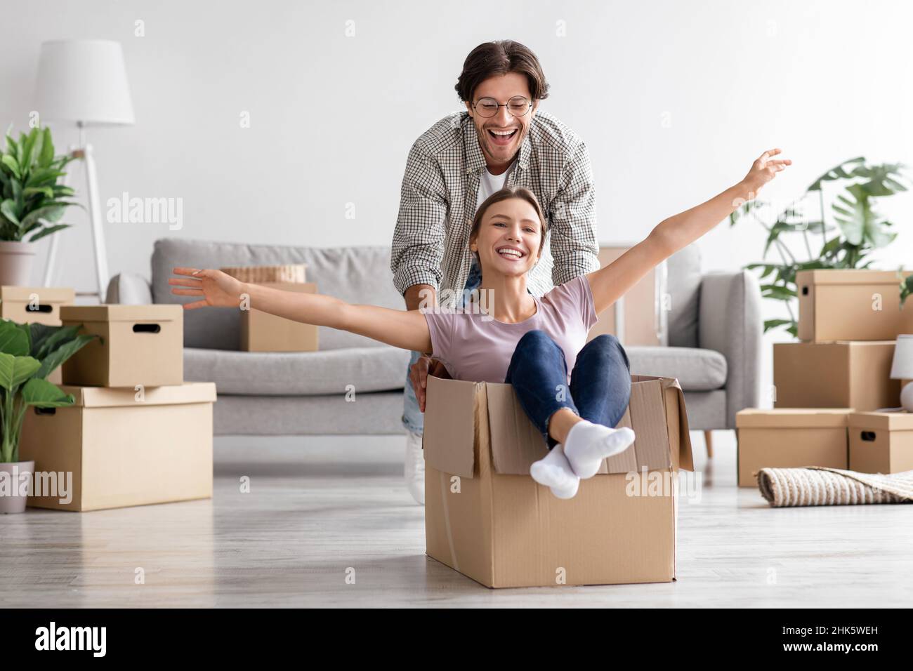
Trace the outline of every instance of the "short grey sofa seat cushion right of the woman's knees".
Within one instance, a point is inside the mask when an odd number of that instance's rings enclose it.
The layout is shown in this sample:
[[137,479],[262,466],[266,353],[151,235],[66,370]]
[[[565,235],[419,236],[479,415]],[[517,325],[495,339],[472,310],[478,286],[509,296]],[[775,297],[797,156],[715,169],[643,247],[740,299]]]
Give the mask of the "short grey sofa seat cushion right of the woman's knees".
[[675,377],[686,392],[709,392],[726,385],[726,357],[694,347],[625,347],[631,372]]

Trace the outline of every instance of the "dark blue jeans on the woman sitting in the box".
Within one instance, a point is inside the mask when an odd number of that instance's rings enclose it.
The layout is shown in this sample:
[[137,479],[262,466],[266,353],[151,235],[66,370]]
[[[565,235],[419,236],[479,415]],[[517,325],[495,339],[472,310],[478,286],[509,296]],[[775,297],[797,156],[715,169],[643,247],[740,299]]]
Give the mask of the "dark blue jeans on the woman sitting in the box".
[[549,449],[551,415],[561,408],[593,424],[614,428],[631,400],[631,364],[613,335],[587,342],[577,354],[568,388],[568,367],[561,347],[542,330],[530,330],[517,343],[508,376],[519,404],[545,438]]

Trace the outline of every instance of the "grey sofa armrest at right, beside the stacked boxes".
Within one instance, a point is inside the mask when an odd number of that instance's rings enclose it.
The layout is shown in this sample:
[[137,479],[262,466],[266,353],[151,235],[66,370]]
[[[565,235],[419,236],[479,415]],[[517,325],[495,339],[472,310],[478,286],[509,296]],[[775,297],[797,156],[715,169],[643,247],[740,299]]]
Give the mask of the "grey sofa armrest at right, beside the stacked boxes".
[[701,278],[698,347],[726,357],[726,428],[735,428],[740,410],[758,405],[762,330],[761,288],[754,275],[741,270]]

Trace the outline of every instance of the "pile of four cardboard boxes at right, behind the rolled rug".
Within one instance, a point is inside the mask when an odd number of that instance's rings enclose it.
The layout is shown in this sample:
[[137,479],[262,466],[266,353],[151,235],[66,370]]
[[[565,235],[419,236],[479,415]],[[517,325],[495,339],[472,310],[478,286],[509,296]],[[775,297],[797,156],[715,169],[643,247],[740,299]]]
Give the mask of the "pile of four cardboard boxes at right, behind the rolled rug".
[[900,309],[899,299],[909,275],[796,273],[800,341],[773,346],[776,409],[736,417],[740,487],[755,487],[762,467],[913,468],[913,417],[875,412],[899,404],[890,372],[897,336],[913,333],[913,308]]

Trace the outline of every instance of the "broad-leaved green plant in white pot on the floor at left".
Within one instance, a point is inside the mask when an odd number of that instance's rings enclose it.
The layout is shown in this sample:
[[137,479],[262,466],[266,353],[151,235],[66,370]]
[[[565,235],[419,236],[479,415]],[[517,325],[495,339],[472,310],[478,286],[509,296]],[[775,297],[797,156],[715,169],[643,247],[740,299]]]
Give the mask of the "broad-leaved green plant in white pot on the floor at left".
[[0,512],[26,509],[21,483],[32,477],[35,462],[19,461],[19,436],[28,407],[74,403],[47,376],[96,337],[80,328],[0,321]]

